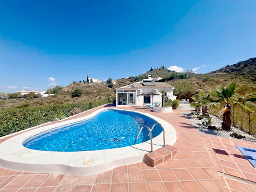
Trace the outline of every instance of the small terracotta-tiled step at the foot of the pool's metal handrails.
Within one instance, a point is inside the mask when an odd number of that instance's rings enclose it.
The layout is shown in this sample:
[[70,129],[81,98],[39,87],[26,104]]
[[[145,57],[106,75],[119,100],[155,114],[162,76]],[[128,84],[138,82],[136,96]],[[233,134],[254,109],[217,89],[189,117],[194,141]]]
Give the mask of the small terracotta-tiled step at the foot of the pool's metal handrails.
[[156,166],[163,164],[170,158],[174,157],[177,153],[177,148],[171,145],[166,145],[166,148],[162,147],[154,151],[155,153],[146,153],[143,161],[149,166]]

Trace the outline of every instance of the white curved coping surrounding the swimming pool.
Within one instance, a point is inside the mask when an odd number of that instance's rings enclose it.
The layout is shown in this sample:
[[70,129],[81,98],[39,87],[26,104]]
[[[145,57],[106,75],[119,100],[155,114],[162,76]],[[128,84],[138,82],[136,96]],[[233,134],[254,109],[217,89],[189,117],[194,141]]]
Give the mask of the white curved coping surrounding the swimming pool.
[[[8,169],[16,169],[25,172],[36,173],[65,173],[90,175],[105,172],[122,165],[134,164],[143,161],[144,154],[150,151],[150,141],[131,145],[128,147],[102,149],[97,151],[81,151],[81,152],[52,152],[38,151],[24,147],[23,142],[38,133],[51,130],[59,126],[66,126],[70,123],[79,122],[93,118],[101,111],[107,109],[123,110],[114,107],[100,108],[91,114],[81,118],[71,119],[64,122],[50,124],[48,126],[39,127],[35,130],[27,131],[19,135],[13,136],[0,144],[0,166]],[[154,115],[145,112],[123,110],[137,112],[156,120],[166,133],[166,144],[173,145],[176,141],[175,128]],[[152,139],[153,150],[159,149],[163,145],[163,133]],[[83,161],[93,158],[92,165],[84,165]]]

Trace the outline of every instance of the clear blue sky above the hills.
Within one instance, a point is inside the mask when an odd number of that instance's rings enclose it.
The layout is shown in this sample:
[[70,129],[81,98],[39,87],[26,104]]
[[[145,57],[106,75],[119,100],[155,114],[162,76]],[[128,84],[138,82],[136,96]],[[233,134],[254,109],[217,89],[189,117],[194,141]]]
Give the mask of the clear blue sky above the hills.
[[0,91],[235,64],[256,56],[255,9],[254,0],[1,1]]

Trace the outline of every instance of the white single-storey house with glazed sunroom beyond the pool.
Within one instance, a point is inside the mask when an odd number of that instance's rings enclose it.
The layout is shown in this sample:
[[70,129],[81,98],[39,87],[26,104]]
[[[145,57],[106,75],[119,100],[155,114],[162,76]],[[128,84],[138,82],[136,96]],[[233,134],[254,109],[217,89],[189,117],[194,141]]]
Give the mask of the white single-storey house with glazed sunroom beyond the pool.
[[154,82],[151,76],[141,82],[119,87],[116,90],[116,106],[143,106],[147,103],[161,102],[161,90],[166,90],[165,96],[174,101],[174,86],[164,82]]

